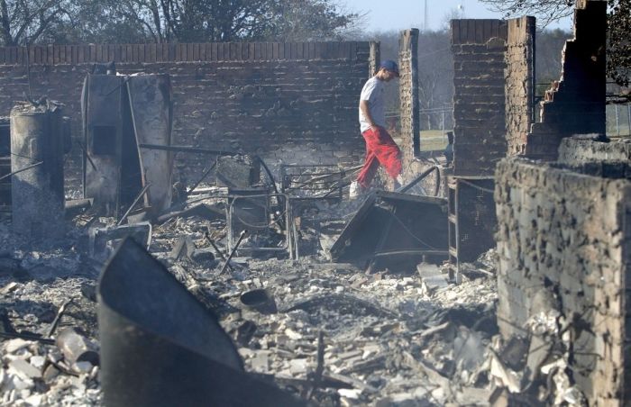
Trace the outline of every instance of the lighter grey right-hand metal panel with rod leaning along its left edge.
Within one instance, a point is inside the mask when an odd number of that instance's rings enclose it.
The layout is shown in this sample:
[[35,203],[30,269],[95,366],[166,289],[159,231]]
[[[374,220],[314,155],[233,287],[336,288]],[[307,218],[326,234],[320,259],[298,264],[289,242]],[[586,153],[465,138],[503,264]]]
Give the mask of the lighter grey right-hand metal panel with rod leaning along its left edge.
[[[137,145],[170,146],[173,106],[169,75],[129,77],[127,92]],[[174,155],[161,149],[139,151],[142,185],[151,184],[144,203],[156,215],[171,204]]]

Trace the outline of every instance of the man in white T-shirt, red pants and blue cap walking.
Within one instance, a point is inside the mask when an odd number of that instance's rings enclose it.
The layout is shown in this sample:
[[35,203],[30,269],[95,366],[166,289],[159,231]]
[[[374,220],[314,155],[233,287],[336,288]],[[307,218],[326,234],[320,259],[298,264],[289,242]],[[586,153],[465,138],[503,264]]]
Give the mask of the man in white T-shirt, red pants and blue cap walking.
[[402,183],[401,150],[386,131],[386,113],[384,86],[386,82],[398,77],[398,66],[393,60],[384,60],[380,69],[361,89],[360,96],[360,129],[366,141],[366,160],[361,168],[357,181],[351,184],[352,198],[370,187],[372,178],[377,174],[380,165],[395,180],[395,185]]

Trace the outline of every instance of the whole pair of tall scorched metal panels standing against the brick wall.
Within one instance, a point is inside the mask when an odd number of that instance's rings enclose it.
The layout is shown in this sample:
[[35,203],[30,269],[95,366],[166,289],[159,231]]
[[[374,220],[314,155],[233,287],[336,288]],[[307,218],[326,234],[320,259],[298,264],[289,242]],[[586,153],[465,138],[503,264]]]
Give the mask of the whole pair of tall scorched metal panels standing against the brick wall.
[[141,194],[150,217],[169,208],[173,153],[139,149],[171,144],[169,76],[88,75],[82,112],[84,197],[108,216],[120,216]]

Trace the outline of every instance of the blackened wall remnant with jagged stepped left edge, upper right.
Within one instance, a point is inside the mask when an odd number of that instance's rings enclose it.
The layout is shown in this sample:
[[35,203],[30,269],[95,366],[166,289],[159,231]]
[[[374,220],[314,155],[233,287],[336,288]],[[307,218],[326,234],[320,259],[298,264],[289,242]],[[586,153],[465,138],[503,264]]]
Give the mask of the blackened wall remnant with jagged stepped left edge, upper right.
[[605,134],[606,41],[607,2],[581,2],[574,11],[574,39],[563,49],[561,79],[546,92],[540,122],[527,135],[528,157],[555,160],[563,138]]

